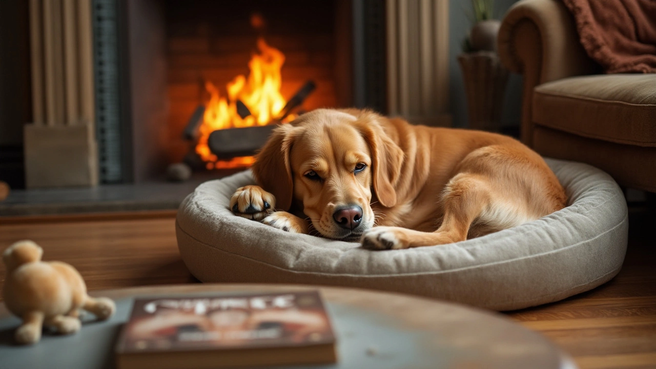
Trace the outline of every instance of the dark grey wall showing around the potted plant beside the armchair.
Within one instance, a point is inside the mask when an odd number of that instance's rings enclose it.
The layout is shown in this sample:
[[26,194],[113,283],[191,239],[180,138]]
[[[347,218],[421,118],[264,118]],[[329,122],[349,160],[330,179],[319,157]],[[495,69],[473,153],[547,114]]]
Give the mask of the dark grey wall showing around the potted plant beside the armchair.
[[[501,20],[516,1],[518,0],[496,0],[494,17]],[[454,127],[468,127],[467,101],[457,58],[458,54],[462,53],[462,42],[474,25],[471,14],[473,11],[470,0],[449,1],[449,97]],[[510,74],[504,98],[502,127],[519,127],[521,108],[522,77]]]

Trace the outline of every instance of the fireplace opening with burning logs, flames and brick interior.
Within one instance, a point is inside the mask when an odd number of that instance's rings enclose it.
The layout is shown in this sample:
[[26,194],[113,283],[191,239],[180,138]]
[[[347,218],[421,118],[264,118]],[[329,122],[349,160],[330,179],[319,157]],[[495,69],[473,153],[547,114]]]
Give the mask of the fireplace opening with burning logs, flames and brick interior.
[[248,167],[265,126],[350,106],[336,87],[350,85],[338,70],[350,58],[338,44],[351,38],[338,2],[164,1],[169,162]]

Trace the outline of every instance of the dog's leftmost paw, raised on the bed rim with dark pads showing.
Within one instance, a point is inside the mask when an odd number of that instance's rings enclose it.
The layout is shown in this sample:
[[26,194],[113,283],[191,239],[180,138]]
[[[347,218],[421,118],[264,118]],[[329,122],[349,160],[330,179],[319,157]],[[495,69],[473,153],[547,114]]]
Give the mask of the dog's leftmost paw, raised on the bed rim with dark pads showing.
[[237,188],[230,198],[230,210],[235,215],[261,221],[276,207],[276,196],[262,190],[260,186],[243,186]]

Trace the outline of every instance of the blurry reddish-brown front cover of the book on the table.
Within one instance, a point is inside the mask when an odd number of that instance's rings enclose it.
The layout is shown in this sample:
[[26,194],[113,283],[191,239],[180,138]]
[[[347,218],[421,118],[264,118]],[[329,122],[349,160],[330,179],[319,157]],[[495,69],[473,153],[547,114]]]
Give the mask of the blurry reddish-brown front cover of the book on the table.
[[334,343],[316,291],[136,299],[119,353]]

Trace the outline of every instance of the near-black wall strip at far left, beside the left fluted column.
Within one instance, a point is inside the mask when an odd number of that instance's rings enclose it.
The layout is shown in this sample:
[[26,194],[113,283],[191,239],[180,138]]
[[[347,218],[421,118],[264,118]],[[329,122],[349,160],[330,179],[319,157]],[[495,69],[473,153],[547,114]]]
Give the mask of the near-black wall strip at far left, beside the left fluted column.
[[28,1],[0,1],[0,180],[24,187],[23,125],[31,119]]

